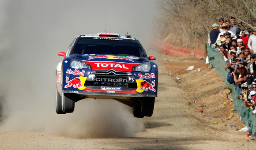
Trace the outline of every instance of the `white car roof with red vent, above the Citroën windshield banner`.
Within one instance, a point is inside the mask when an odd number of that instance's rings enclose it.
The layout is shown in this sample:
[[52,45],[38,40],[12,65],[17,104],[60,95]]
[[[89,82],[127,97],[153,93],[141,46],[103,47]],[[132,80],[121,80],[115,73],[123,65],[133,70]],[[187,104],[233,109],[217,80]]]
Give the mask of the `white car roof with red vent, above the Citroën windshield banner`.
[[78,37],[81,37],[81,38],[94,38],[94,37],[97,37],[97,38],[122,38],[122,39],[128,39],[128,40],[135,40],[135,38],[132,38],[128,34],[126,34],[125,36],[120,36],[119,34],[116,34],[116,33],[105,33],[105,32],[99,32],[97,34],[83,34],[83,35],[79,35]]

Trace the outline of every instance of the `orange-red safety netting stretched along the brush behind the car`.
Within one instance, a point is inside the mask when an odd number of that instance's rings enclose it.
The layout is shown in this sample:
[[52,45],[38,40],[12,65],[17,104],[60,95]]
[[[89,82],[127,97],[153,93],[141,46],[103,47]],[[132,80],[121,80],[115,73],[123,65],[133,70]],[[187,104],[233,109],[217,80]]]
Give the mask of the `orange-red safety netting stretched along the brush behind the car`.
[[204,57],[204,50],[186,49],[186,48],[170,45],[155,37],[152,38],[151,48],[156,49],[159,52],[170,55],[170,56],[191,55],[192,53],[195,53],[196,57],[199,59],[201,57]]

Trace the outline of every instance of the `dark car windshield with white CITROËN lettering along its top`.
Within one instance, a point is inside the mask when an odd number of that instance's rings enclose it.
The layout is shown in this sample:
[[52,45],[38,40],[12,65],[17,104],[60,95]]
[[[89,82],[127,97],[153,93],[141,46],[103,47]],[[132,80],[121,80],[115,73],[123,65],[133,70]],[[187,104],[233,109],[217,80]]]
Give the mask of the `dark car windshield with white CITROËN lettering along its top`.
[[120,38],[79,38],[72,54],[146,57],[137,40]]

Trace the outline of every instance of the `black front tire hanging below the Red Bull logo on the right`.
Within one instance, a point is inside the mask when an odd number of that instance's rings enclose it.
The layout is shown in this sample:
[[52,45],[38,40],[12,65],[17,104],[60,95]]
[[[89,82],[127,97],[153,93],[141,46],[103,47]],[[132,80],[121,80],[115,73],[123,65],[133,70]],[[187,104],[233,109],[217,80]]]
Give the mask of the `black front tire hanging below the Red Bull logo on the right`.
[[152,116],[154,111],[155,97],[143,97],[141,114],[143,116]]

